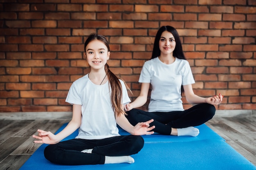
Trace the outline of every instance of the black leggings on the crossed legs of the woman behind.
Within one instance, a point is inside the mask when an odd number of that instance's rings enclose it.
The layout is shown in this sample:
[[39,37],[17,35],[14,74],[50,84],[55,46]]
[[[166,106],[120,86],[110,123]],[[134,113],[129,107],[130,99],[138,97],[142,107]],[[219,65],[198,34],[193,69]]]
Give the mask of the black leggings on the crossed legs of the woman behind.
[[126,112],[130,124],[135,126],[139,122],[154,119],[150,126],[155,126],[152,130],[163,135],[170,135],[171,128],[186,128],[189,126],[199,126],[210,120],[215,114],[216,108],[207,103],[197,104],[184,111],[172,112],[146,112],[139,109],[132,109]]

